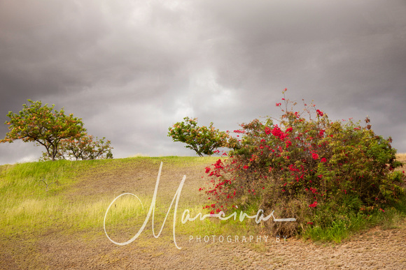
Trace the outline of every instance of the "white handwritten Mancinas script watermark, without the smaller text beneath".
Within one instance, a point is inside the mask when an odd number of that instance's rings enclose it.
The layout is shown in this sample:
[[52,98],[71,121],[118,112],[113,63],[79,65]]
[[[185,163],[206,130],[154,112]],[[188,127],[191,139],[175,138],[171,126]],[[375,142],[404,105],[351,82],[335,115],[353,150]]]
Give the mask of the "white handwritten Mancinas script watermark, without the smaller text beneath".
[[[107,231],[106,231],[106,217],[107,217],[107,213],[109,213],[109,210],[110,210],[111,206],[114,204],[114,202],[116,202],[116,200],[118,200],[118,198],[120,198],[120,197],[122,197],[122,196],[124,196],[124,195],[132,195],[132,196],[136,197],[137,200],[139,200],[139,197],[137,197],[137,195],[134,195],[134,194],[132,194],[132,193],[123,193],[123,194],[120,194],[120,195],[118,195],[118,196],[111,202],[111,204],[110,204],[109,207],[107,208],[106,213],[104,214],[103,227],[104,227],[104,233],[106,234],[106,237],[107,237],[111,242],[113,242],[113,243],[115,243],[116,245],[119,245],[119,246],[125,246],[125,245],[127,245],[127,244],[129,244],[129,243],[132,243],[132,242],[133,242],[135,239],[137,239],[137,238],[139,237],[139,235],[144,231],[144,229],[145,229],[145,227],[146,227],[146,225],[147,225],[147,223],[148,223],[148,220],[151,218],[151,215],[152,215],[152,231],[153,231],[153,236],[154,236],[155,238],[160,237],[160,234],[161,234],[161,232],[162,232],[162,230],[163,230],[163,228],[164,228],[165,222],[167,221],[167,218],[168,218],[168,216],[169,216],[169,212],[171,211],[172,206],[173,206],[173,204],[175,203],[175,206],[174,206],[174,220],[173,220],[172,232],[173,232],[174,244],[175,244],[176,248],[181,249],[181,247],[179,247],[178,244],[176,243],[176,233],[175,233],[175,232],[176,232],[176,213],[177,213],[177,210],[178,210],[178,204],[179,204],[179,199],[180,199],[180,197],[181,197],[181,192],[182,192],[183,184],[184,184],[185,181],[186,181],[186,175],[183,176],[183,179],[182,179],[181,183],[179,184],[178,189],[176,190],[176,193],[175,193],[175,195],[174,195],[174,198],[172,199],[172,202],[171,202],[171,204],[169,205],[169,209],[168,209],[167,214],[166,214],[166,216],[165,216],[165,219],[164,219],[164,221],[163,221],[163,223],[162,223],[162,226],[161,226],[161,228],[160,228],[160,231],[158,232],[158,234],[155,234],[155,230],[154,230],[155,202],[156,202],[156,199],[157,199],[158,186],[159,186],[159,183],[160,183],[160,176],[161,176],[161,171],[162,171],[162,164],[163,164],[163,163],[161,162],[161,164],[160,164],[160,170],[158,171],[157,181],[156,181],[156,183],[155,183],[155,190],[154,190],[154,193],[153,193],[153,199],[152,199],[151,205],[150,205],[150,207],[149,207],[148,213],[147,213],[147,215],[146,215],[146,218],[145,218],[145,220],[144,220],[144,223],[141,225],[141,227],[139,228],[137,234],[135,234],[134,237],[132,237],[132,239],[130,239],[130,240],[128,240],[128,241],[125,241],[125,242],[117,242],[117,241],[114,241],[113,239],[111,239],[111,238],[109,237],[109,234],[107,234]],[[141,200],[139,200],[139,202],[141,202]],[[143,209],[144,209],[144,206],[142,205],[142,202],[141,202],[141,206],[142,206]],[[228,219],[230,219],[230,218],[233,218],[234,220],[236,220],[236,219],[237,219],[237,216],[238,216],[238,215],[237,215],[237,212],[234,212],[234,213],[230,214],[229,216],[225,216],[225,213],[224,213],[223,211],[220,211],[219,213],[215,213],[215,214],[210,214],[210,213],[209,213],[209,214],[205,214],[205,215],[202,215],[202,213],[197,213],[196,216],[190,217],[190,211],[189,211],[189,209],[186,209],[185,211],[183,211],[181,221],[182,221],[182,224],[185,224],[186,222],[188,222],[188,221],[194,221],[194,220],[196,220],[197,218],[199,218],[200,220],[204,220],[205,218],[218,218],[218,219],[220,219],[220,220],[228,220]],[[296,220],[295,218],[275,218],[275,217],[274,217],[274,211],[272,211],[272,213],[269,213],[268,216],[264,216],[264,211],[263,211],[262,209],[259,209],[258,212],[257,212],[255,215],[253,215],[253,216],[248,216],[248,215],[247,215],[246,213],[244,213],[243,211],[240,211],[240,213],[239,213],[239,221],[241,221],[241,222],[242,222],[245,218],[249,218],[249,219],[254,219],[254,218],[255,218],[255,223],[260,223],[262,220],[266,221],[266,220],[269,220],[269,218],[271,218],[271,217],[273,218],[274,222],[284,222],[284,221],[295,221],[295,220]]]

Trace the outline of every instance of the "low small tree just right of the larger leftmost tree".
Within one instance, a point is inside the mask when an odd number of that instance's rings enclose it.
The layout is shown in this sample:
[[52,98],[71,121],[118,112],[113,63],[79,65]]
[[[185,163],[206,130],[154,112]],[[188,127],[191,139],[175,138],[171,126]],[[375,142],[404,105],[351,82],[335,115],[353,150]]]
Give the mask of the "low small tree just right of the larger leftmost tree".
[[[110,146],[110,141],[102,139],[94,139],[92,135],[83,134],[78,138],[62,139],[59,142],[59,150],[56,159],[66,160],[93,160],[113,158]],[[49,159],[47,153],[43,153],[43,160]]]

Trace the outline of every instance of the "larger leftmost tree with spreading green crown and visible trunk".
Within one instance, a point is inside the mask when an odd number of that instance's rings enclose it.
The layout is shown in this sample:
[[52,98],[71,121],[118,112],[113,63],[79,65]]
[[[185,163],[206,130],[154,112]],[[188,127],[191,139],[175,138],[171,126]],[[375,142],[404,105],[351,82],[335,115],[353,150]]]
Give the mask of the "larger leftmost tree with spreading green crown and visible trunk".
[[10,131],[0,142],[37,142],[45,147],[48,157],[55,160],[61,140],[78,139],[85,133],[82,119],[73,117],[73,114],[65,115],[63,108],[58,112],[54,110],[55,105],[48,107],[41,101],[28,101],[31,104],[22,105],[18,114],[8,112],[10,121],[6,124]]

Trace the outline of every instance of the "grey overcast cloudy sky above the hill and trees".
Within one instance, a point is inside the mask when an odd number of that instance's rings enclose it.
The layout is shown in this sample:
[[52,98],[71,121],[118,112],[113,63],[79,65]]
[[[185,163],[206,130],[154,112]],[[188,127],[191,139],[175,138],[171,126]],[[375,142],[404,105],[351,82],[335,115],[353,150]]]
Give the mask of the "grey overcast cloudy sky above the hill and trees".
[[[331,120],[369,116],[405,153],[405,14],[404,0],[0,0],[0,138],[31,99],[83,119],[115,158],[195,156],[173,123],[278,118],[287,88]],[[0,144],[0,164],[44,150]]]

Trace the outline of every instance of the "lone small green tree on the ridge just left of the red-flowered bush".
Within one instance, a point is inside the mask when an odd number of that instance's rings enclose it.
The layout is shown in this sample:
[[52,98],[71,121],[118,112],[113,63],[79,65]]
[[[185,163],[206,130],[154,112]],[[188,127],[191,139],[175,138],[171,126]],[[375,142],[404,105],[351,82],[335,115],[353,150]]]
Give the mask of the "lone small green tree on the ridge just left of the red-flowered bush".
[[188,144],[186,148],[195,150],[199,156],[212,155],[214,149],[226,146],[228,133],[215,129],[213,123],[207,128],[197,126],[196,118],[185,117],[183,120],[169,128],[168,136],[172,137],[174,142]]

